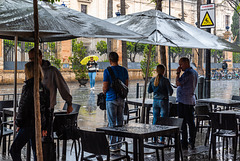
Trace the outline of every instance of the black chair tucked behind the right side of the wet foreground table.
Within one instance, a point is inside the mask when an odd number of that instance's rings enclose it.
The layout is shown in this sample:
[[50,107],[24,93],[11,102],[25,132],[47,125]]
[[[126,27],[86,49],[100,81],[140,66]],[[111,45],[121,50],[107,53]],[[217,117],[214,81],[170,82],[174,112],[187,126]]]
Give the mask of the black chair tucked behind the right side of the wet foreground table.
[[[170,118],[170,117],[159,117],[157,118],[157,122],[156,125],[166,125],[166,126],[178,126],[179,130],[182,127],[182,122],[183,119],[182,118]],[[174,136],[172,135],[168,135],[166,137],[173,138]],[[181,160],[183,160],[183,154],[182,154],[182,146],[181,146],[181,142],[179,140],[179,152],[181,155]],[[154,141],[150,141],[148,143],[144,143],[144,147],[145,148],[150,148],[150,149],[155,149],[156,150],[156,155],[157,155],[157,160],[159,161],[159,153],[158,150],[162,151],[162,160],[164,160],[164,148],[169,148],[169,147],[174,147],[173,144],[162,144],[162,143],[158,143],[157,139],[155,139]]]

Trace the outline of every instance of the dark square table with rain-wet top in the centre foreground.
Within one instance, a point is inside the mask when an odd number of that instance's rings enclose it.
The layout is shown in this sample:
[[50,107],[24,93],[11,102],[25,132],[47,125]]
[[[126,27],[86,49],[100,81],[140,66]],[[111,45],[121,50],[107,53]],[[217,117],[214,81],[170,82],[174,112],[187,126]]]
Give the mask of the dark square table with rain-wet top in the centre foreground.
[[[179,128],[177,126],[150,125],[129,123],[122,127],[100,127],[97,131],[104,131],[107,135],[114,135],[133,139],[134,161],[144,160],[143,140],[151,137],[174,134],[175,161],[179,160]],[[139,156],[138,156],[139,155]]]

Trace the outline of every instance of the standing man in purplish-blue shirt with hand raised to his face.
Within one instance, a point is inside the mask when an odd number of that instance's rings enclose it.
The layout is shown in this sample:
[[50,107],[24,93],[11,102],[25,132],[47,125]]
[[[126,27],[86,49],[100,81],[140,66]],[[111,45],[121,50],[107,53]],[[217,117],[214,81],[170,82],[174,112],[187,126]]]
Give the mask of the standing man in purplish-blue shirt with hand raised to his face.
[[[181,71],[184,73],[180,77]],[[188,148],[190,144],[191,149],[195,148],[196,127],[194,122],[194,105],[195,88],[197,86],[198,73],[190,67],[189,59],[183,57],[179,60],[179,67],[177,69],[177,102],[178,102],[178,116],[183,118],[182,125],[182,147]],[[189,142],[188,142],[188,130],[189,129]]]

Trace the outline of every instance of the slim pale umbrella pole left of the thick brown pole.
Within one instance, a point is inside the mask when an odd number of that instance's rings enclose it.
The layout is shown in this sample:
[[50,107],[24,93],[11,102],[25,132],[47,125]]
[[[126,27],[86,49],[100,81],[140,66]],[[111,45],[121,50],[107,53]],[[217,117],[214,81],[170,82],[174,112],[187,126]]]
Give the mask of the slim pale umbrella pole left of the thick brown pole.
[[[13,101],[13,138],[16,137],[16,110],[17,110],[17,42],[18,36],[15,36],[14,47],[15,47],[15,63],[14,63],[14,101]],[[3,120],[6,121],[6,120]]]

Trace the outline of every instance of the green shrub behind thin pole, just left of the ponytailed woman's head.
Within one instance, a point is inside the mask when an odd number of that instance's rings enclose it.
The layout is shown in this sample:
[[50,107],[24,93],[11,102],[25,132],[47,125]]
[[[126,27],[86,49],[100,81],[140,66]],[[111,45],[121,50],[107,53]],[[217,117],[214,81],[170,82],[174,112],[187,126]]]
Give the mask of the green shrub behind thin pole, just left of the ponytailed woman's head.
[[[142,76],[143,78],[146,77],[146,71],[147,71],[147,59],[148,59],[148,53],[149,53],[149,46],[150,45],[145,45],[144,48],[144,53],[143,53],[143,60],[140,62],[141,69],[142,69]],[[151,57],[150,57],[150,62],[149,62],[149,71],[148,71],[148,77],[153,76],[153,70],[157,66],[157,62],[154,61],[154,55],[156,53],[156,46],[152,47],[152,52],[151,52]]]

